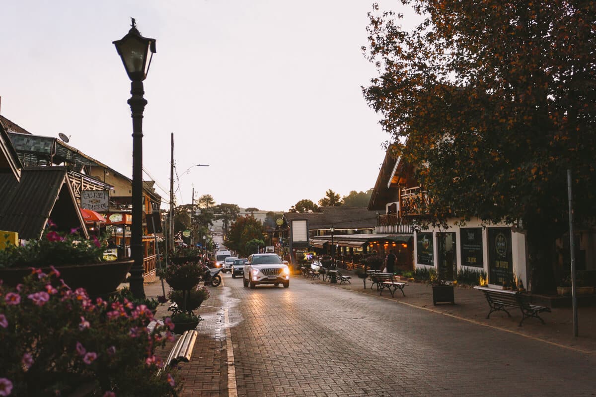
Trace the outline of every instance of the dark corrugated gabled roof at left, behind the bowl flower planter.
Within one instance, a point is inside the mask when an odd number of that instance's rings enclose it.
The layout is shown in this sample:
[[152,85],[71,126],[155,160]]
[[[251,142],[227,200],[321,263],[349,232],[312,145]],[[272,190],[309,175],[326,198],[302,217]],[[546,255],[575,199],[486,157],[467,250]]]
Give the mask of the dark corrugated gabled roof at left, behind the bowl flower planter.
[[[18,232],[21,239],[38,239],[51,214],[64,218],[63,222],[53,219],[59,230],[85,230],[66,172],[66,167],[23,168],[20,182],[0,174],[0,230]],[[57,214],[52,211],[58,199]]]

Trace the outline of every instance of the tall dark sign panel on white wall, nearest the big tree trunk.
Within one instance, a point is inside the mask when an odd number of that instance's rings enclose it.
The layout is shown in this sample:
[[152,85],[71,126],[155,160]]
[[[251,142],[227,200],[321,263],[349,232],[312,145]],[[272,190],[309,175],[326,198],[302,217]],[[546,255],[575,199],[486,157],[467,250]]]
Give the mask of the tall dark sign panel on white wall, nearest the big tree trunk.
[[513,278],[513,255],[511,251],[511,229],[490,227],[488,229],[488,282],[502,285]]

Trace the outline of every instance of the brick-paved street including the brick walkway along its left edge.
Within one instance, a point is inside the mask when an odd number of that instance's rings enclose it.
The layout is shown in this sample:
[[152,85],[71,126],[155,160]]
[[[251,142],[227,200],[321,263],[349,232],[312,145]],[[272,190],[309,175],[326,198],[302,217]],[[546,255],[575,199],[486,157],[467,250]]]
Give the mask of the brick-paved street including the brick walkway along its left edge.
[[595,395],[593,354],[320,284],[226,275],[201,307],[183,395]]

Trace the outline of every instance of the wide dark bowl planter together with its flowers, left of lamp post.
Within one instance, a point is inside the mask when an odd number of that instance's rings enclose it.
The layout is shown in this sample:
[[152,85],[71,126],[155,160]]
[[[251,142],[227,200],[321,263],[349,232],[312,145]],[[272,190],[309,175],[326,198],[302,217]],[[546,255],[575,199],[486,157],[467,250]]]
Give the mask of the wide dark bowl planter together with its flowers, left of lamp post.
[[133,261],[104,261],[106,237],[85,239],[78,229],[70,233],[54,230],[49,222],[41,239],[24,246],[8,246],[0,250],[0,278],[6,285],[16,286],[31,273],[31,267],[41,267],[49,273],[57,268],[64,282],[72,287],[85,288],[92,296],[107,296],[125,282]]

